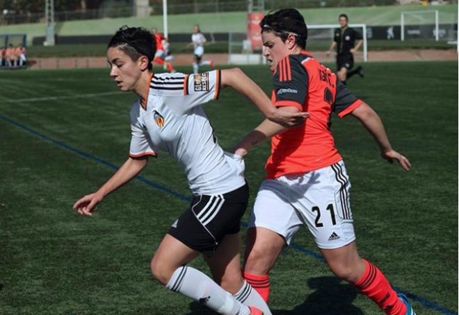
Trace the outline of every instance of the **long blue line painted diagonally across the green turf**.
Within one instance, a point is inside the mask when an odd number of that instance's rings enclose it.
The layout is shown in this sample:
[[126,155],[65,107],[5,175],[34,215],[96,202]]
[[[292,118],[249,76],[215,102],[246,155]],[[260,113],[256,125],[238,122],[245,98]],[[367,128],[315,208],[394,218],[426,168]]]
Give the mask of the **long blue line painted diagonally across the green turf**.
[[[58,141],[58,140],[55,140],[55,139],[52,139],[51,137],[48,137],[47,135],[44,135],[42,133],[39,133],[38,131],[35,131],[23,124],[20,124],[16,121],[13,121],[11,119],[9,119],[8,117],[5,117],[3,116],[2,114],[0,114],[0,119],[3,119],[3,121],[7,121],[8,123],[10,124],[13,124],[15,126],[17,126],[18,128],[21,128],[22,130],[26,130],[28,133],[31,133],[32,135],[35,135],[37,137],[40,137],[42,139],[45,139],[49,142],[51,142],[52,144],[56,144],[57,146],[61,146],[62,148],[65,148],[66,150],[70,151],[70,152],[73,152],[73,153],[77,153],[77,155],[80,155],[82,157],[86,157],[88,160],[92,160],[92,161],[95,161],[95,162],[98,162],[100,164],[104,164],[106,167],[110,167],[111,169],[115,169],[115,170],[118,170],[118,167],[115,165],[115,164],[112,164],[111,162],[108,162],[100,157],[96,157],[94,155],[90,155],[86,152],[83,152],[83,151],[80,151],[79,149],[77,148],[74,148],[73,146],[70,146],[68,144],[65,144],[64,142],[61,142],[61,141]],[[184,194],[180,194],[178,193],[177,191],[173,191],[172,189],[168,189],[166,187],[163,187],[161,185],[158,185],[154,182],[152,182],[151,180],[147,180],[147,178],[144,178],[142,176],[136,176],[136,180],[139,180],[140,182],[143,182],[145,183],[146,185],[149,185],[150,187],[153,187],[155,189],[159,189],[163,192],[166,192],[167,194],[170,194],[176,198],[179,198],[183,201],[191,201],[191,198],[189,196],[186,196]],[[244,227],[247,227],[247,223],[242,223],[242,225]],[[314,252],[313,250],[309,250],[307,248],[303,248],[297,244],[294,244],[292,243],[291,244],[291,248],[293,248],[294,250],[297,250],[298,252],[300,253],[304,253],[305,255],[309,255],[311,257],[314,257],[315,259],[318,259],[320,260],[321,262],[325,262],[325,260],[323,259],[322,255],[320,253],[317,253],[317,252]],[[450,309],[446,309],[444,307],[441,307],[440,305],[438,305],[437,303],[434,303],[434,302],[430,302],[429,300],[426,300],[425,298],[421,298],[420,296],[416,296],[412,293],[409,293],[409,292],[406,292],[406,291],[402,291],[401,289],[398,289],[397,287],[394,287],[394,289],[400,293],[403,293],[405,294],[405,296],[408,296],[408,298],[410,298],[411,300],[415,300],[419,303],[421,303],[421,305],[424,305],[425,307],[428,307],[429,309],[434,309],[435,311],[437,312],[440,312],[444,315],[458,315],[457,312],[453,312],[451,311]]]

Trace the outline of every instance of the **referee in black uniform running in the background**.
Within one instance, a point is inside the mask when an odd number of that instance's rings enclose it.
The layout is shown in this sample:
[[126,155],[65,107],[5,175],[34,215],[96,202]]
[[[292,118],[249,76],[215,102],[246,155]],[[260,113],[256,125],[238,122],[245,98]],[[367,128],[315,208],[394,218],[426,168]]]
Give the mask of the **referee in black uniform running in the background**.
[[[337,47],[337,75],[339,80],[346,83],[348,78],[354,74],[358,74],[363,78],[363,69],[361,66],[356,69],[354,67],[353,53],[357,51],[362,45],[362,35],[348,26],[348,16],[345,14],[339,15],[339,25],[341,28],[335,30],[335,37],[333,38],[327,56]],[[357,40],[357,44],[355,41]]]

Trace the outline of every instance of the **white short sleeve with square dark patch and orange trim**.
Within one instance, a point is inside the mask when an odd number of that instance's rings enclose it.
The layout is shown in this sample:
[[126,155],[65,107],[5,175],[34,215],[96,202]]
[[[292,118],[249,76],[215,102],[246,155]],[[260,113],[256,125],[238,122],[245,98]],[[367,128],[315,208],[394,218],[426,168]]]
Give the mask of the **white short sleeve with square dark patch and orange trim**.
[[218,99],[220,82],[220,70],[190,74],[184,78],[183,94],[170,94],[163,97],[169,108],[184,113],[195,106]]

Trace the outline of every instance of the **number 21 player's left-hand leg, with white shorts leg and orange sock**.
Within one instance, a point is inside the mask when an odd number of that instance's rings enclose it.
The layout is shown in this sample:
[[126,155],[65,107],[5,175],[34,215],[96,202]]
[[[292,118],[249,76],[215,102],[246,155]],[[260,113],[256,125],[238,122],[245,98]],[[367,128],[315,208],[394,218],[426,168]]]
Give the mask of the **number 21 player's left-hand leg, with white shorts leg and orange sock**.
[[269,271],[303,223],[288,200],[282,178],[261,183],[250,215],[243,276],[268,301]]

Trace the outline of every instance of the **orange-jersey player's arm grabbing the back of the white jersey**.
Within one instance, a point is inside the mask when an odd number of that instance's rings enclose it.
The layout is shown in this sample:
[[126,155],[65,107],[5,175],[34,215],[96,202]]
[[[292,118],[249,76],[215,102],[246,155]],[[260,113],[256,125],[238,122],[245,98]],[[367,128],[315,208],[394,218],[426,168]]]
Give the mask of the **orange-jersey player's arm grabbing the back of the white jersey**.
[[[293,106],[285,106],[284,110],[288,112],[300,112],[298,108]],[[257,128],[252,130],[238,144],[236,144],[232,151],[234,154],[243,157],[253,148],[253,146],[263,142],[268,138],[273,137],[274,135],[283,133],[285,130],[287,130],[286,127],[265,119],[263,122],[261,122],[261,124],[257,126]]]

